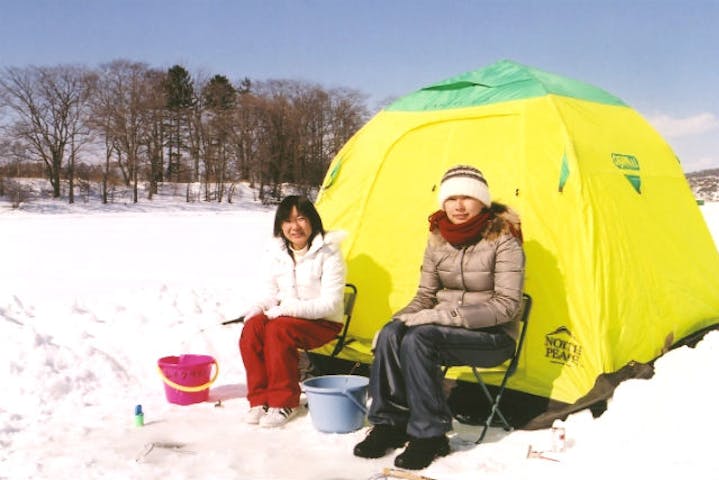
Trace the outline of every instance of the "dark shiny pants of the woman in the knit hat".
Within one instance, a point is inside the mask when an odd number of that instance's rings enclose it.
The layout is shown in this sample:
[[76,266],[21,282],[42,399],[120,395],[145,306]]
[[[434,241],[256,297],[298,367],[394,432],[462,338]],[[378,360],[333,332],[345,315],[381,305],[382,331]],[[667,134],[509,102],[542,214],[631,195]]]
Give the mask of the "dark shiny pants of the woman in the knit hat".
[[514,340],[500,329],[407,327],[393,320],[377,339],[368,419],[375,425],[406,426],[415,438],[442,435],[452,429],[452,413],[442,391],[441,366],[495,366],[514,349]]

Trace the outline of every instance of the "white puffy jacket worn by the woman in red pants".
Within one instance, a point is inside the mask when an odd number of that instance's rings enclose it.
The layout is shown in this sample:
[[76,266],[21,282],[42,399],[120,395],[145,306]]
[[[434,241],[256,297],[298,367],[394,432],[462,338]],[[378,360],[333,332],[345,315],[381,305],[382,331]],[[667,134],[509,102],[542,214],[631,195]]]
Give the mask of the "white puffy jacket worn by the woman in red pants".
[[340,250],[345,232],[317,234],[307,253],[293,261],[284,241],[268,248],[262,310],[280,305],[283,315],[308,320],[344,322],[346,266]]

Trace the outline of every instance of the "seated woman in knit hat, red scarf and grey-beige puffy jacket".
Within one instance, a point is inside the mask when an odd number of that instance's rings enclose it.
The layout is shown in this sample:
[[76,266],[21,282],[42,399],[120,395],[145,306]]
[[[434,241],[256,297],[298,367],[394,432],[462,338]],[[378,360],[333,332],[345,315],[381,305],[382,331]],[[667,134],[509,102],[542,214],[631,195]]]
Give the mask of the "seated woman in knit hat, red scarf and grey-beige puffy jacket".
[[365,458],[407,447],[400,468],[422,469],[449,453],[452,414],[441,366],[488,365],[511,357],[524,284],[519,217],[491,202],[487,181],[468,165],[450,168],[430,235],[419,288],[377,336],[370,373],[374,426],[354,448]]

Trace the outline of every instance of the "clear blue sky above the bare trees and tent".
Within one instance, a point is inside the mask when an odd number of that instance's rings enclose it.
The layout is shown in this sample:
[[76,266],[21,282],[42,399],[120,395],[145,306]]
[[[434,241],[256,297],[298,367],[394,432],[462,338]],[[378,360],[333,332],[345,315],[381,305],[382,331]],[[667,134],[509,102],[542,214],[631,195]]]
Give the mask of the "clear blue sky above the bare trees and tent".
[[117,58],[350,87],[379,105],[511,59],[640,111],[719,168],[719,0],[0,0],[0,68]]

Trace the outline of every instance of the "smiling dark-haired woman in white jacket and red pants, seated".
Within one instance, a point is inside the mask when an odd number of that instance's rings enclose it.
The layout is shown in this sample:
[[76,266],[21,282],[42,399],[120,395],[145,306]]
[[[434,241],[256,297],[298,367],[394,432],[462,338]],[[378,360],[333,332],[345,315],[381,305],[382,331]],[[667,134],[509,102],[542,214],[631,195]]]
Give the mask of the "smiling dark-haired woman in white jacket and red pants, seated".
[[340,232],[325,232],[307,198],[277,207],[265,294],[245,315],[240,353],[247,374],[247,423],[278,427],[297,413],[298,349],[335,338],[344,321],[346,267]]

